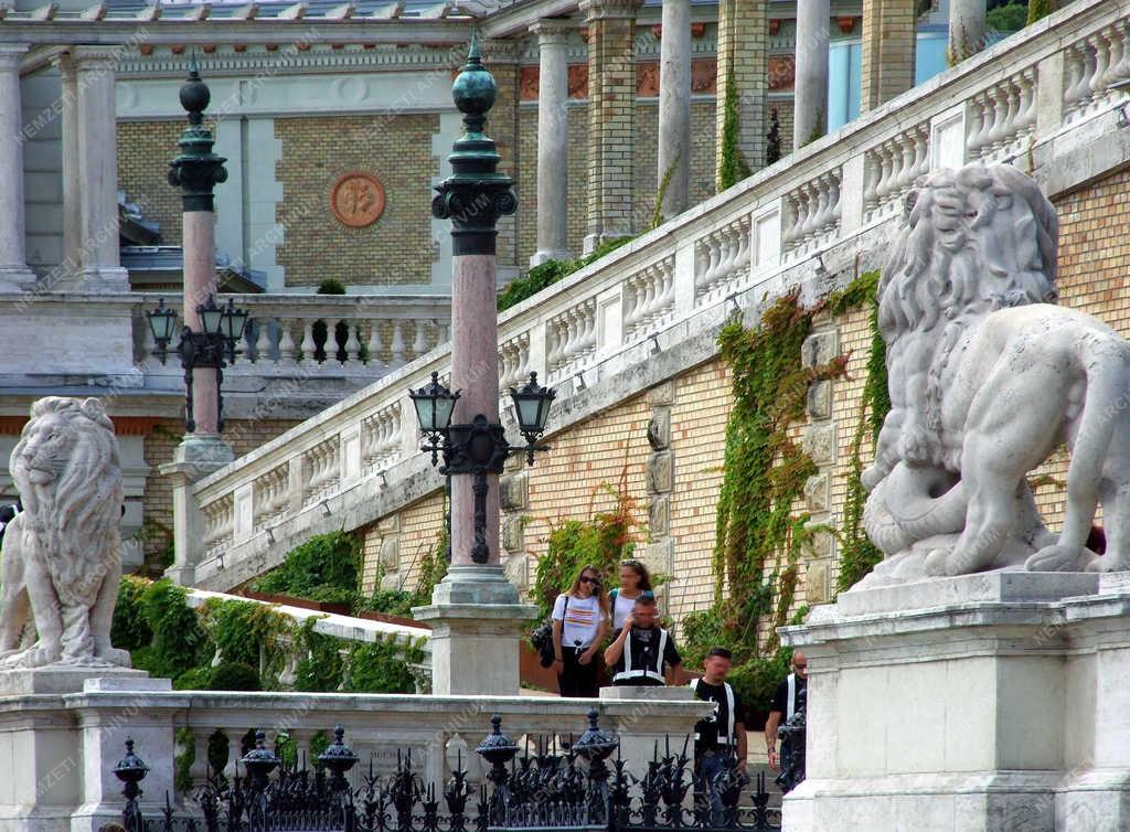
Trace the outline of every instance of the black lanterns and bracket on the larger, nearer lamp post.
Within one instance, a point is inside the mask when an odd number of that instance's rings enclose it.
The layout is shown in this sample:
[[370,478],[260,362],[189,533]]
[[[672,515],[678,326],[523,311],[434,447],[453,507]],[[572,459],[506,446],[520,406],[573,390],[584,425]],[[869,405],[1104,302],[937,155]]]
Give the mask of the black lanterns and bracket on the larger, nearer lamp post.
[[530,381],[521,390],[511,388],[514,400],[514,415],[518,417],[519,432],[525,440],[525,445],[512,448],[506,441],[502,425],[490,424],[483,414],[478,414],[469,424],[452,425],[451,416],[455,409],[459,392],[452,392],[440,383],[440,374],[432,373],[432,383],[419,390],[409,390],[408,396],[416,408],[420,433],[424,443],[420,450],[432,454],[432,465],[438,462],[443,453],[443,466],[440,473],[444,475],[470,474],[475,477],[471,491],[475,494],[475,545],[471,547],[471,560],[475,563],[486,563],[490,557],[487,545],[487,475],[502,474],[506,458],[512,453],[525,453],[530,465],[533,465],[536,451],[548,451],[549,445],[538,444],[538,439],[546,431],[549,417],[549,405],[556,392],[538,385],[538,374],[530,373]]

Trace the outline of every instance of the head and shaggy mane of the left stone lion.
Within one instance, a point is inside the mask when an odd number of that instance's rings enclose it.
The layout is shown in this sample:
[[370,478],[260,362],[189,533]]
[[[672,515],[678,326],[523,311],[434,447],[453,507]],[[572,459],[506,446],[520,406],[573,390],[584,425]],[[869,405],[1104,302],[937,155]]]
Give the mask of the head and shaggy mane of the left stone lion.
[[[44,440],[50,440],[51,450]],[[33,482],[36,463],[51,467],[55,477],[44,484]],[[102,402],[37,400],[12,450],[9,470],[24,503],[25,540],[46,566],[60,603],[89,605],[107,564],[121,557],[121,467],[114,427]]]

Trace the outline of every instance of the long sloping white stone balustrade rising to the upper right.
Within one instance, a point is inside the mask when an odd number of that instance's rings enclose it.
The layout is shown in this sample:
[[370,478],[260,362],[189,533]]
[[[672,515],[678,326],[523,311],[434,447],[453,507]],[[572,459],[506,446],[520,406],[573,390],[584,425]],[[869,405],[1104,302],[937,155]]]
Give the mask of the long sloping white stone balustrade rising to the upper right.
[[[1118,133],[1128,26],[1125,3],[1077,0],[510,310],[504,389],[530,371],[557,385],[559,431],[575,392],[819,275],[833,249],[881,241],[922,174],[976,159],[1050,170]],[[356,528],[437,488],[407,392],[449,369],[441,346],[197,483],[188,504],[208,519],[208,545],[179,564],[231,587],[322,527]]]

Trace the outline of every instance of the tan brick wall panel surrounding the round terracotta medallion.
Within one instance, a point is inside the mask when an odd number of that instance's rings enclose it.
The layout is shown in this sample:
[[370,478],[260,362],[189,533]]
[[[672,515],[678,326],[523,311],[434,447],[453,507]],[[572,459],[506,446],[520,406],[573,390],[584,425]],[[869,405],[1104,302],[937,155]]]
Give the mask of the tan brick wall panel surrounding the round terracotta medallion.
[[[438,170],[432,137],[438,128],[434,113],[275,121],[282,142],[276,211],[286,229],[277,260],[287,286],[331,277],[346,285],[432,281],[432,177]],[[384,213],[365,228],[342,225],[330,210],[330,189],[350,171],[384,187]]]

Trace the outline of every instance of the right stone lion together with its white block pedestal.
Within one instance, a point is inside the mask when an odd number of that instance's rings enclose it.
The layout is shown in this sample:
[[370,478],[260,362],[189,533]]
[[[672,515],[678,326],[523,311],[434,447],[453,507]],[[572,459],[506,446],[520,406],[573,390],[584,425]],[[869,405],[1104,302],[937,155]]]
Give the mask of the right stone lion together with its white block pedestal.
[[[809,665],[785,829],[1128,830],[1130,345],[1054,304],[1055,213],[1015,168],[933,173],[904,220],[863,475],[885,560],[780,631]],[[1057,532],[1027,476],[1061,444]]]

